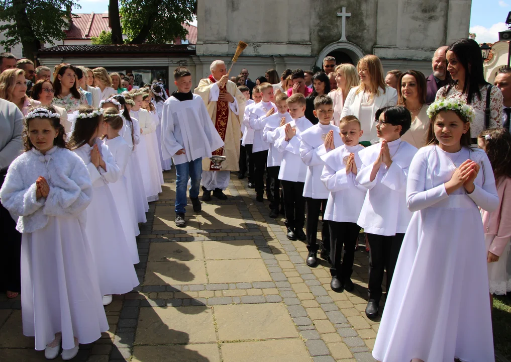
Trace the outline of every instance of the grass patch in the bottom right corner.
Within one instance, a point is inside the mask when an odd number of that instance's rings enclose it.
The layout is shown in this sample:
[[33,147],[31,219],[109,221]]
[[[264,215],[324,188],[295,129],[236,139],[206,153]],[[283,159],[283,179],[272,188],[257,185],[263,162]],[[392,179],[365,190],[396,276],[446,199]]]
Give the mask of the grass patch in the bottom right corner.
[[511,298],[495,296],[493,299],[493,340],[495,349],[511,360]]

